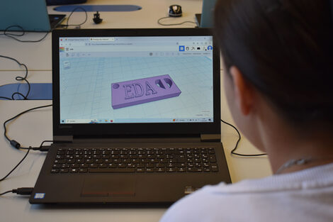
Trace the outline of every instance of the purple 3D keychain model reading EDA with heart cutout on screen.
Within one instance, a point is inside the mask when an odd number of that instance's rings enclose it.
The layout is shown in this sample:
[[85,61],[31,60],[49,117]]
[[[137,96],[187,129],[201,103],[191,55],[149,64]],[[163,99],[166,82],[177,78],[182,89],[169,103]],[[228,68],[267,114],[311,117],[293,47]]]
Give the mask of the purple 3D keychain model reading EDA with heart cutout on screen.
[[181,90],[169,74],[111,84],[112,107],[119,109],[179,96]]

